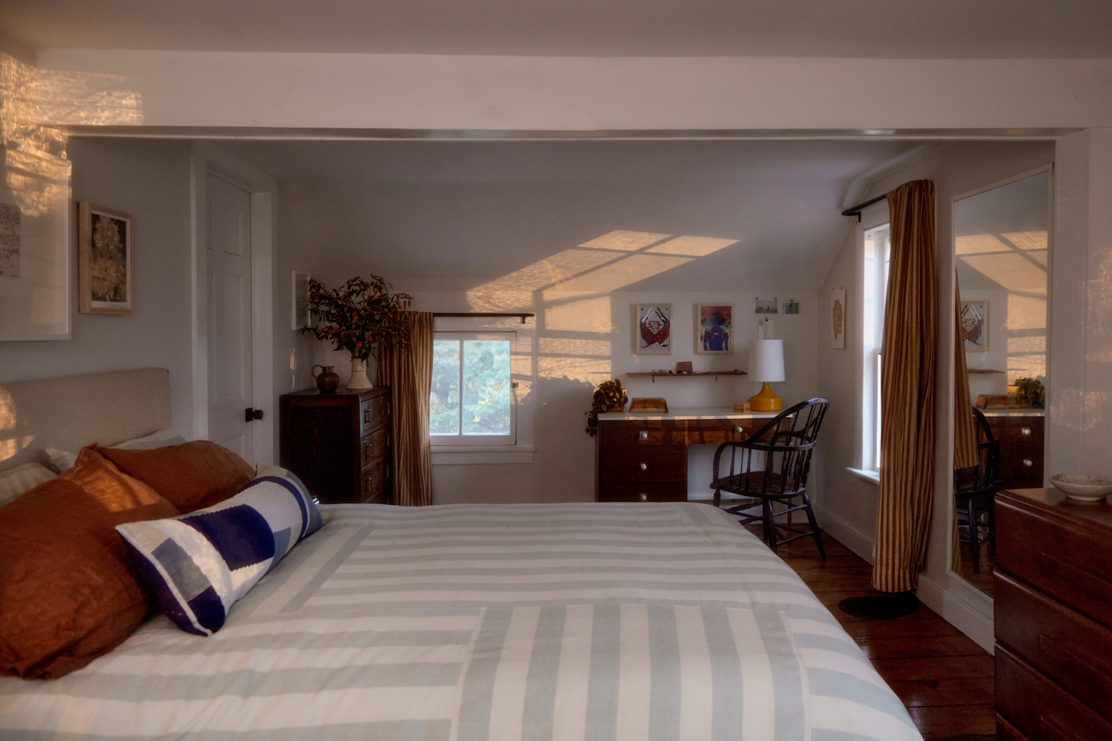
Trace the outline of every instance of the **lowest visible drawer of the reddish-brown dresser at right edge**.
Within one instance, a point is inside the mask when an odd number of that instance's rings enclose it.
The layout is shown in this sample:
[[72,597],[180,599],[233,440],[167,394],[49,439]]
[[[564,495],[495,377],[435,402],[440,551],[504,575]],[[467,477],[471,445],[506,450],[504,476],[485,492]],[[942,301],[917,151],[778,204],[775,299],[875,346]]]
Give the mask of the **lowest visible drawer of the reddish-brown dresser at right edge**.
[[1112,723],[1000,643],[996,644],[996,709],[1031,739],[1112,739]]

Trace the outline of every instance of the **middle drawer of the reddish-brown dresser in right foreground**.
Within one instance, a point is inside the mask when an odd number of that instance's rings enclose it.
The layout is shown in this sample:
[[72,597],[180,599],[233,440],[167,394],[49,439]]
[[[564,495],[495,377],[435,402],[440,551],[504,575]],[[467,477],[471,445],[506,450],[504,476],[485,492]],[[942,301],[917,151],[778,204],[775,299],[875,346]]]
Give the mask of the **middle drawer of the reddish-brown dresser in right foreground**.
[[996,641],[1105,718],[1112,718],[1112,630],[995,574]]

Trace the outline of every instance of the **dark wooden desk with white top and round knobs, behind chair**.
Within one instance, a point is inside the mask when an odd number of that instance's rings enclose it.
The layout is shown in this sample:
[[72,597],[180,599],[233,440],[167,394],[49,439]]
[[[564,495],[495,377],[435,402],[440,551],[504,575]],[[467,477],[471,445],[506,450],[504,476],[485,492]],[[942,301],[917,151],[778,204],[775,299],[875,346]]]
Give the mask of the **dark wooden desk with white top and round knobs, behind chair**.
[[780,412],[728,408],[598,415],[600,502],[674,502],[687,499],[687,445],[743,440]]

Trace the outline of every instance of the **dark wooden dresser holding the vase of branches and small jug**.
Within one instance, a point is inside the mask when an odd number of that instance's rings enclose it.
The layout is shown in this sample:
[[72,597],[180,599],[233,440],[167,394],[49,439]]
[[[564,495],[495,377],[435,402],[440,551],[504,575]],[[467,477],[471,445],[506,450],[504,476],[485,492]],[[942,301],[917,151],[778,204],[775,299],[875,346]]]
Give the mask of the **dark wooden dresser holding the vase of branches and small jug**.
[[389,387],[285,393],[279,414],[281,465],[296,473],[317,501],[389,500]]

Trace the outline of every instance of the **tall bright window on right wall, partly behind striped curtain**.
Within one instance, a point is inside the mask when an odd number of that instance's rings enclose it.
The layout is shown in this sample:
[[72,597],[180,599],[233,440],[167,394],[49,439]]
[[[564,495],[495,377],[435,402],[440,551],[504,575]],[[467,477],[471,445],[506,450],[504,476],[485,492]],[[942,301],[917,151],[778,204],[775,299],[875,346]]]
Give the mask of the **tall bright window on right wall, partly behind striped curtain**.
[[866,229],[864,232],[861,468],[874,473],[881,470],[881,342],[884,336],[884,300],[888,287],[890,236],[888,224]]

